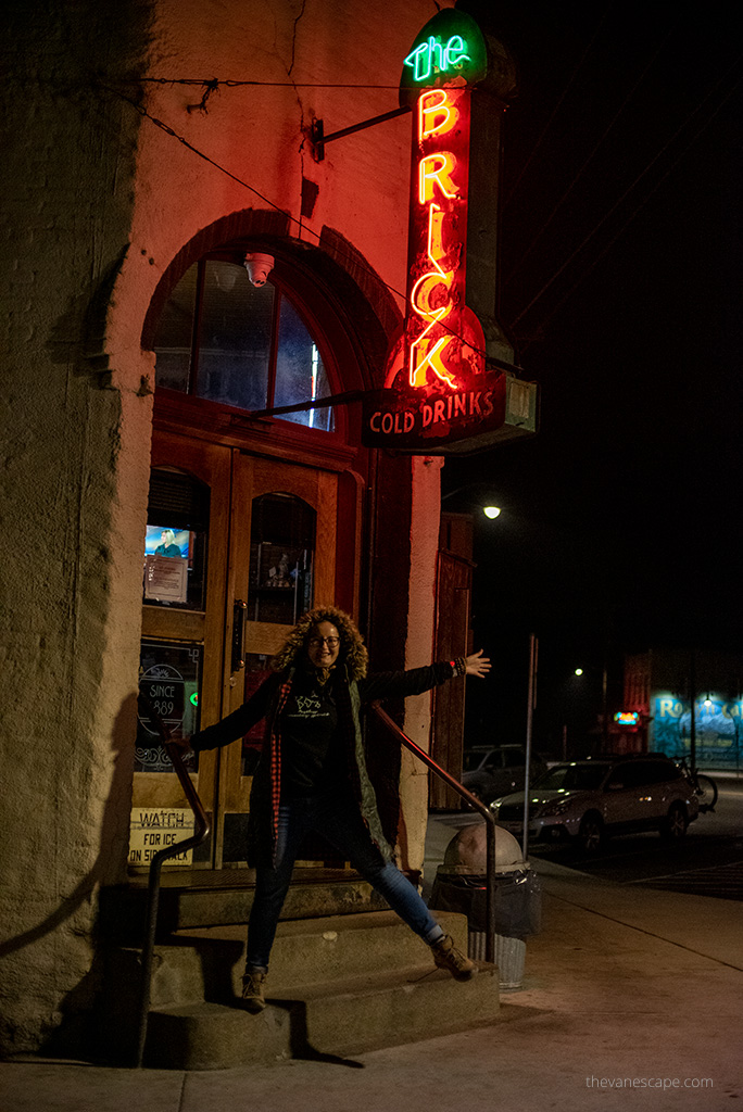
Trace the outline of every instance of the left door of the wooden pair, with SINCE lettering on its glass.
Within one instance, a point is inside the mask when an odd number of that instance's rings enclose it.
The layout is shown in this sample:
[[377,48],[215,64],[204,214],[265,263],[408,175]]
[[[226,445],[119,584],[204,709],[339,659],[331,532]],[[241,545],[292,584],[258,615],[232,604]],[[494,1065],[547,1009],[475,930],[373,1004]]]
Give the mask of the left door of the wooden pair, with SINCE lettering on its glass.
[[[229,449],[156,433],[142,538],[140,691],[174,734],[190,735],[221,716],[229,483]],[[205,753],[188,767],[204,806],[214,814],[218,757]],[[162,847],[160,832],[165,837],[175,830],[180,841],[189,836],[190,824],[190,808],[156,723],[140,705],[130,867],[149,865]],[[209,867],[212,854],[209,840],[166,867]]]

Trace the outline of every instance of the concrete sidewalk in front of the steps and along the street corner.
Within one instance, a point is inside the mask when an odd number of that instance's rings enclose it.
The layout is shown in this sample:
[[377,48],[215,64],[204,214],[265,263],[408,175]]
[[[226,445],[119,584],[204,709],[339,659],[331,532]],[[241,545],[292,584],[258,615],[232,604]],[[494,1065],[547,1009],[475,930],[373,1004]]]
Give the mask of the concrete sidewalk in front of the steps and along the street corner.
[[[741,904],[539,862],[543,932],[491,1027],[218,1073],[0,1063],[2,1112],[722,1110],[743,1099]],[[665,1088],[663,1088],[665,1085]]]

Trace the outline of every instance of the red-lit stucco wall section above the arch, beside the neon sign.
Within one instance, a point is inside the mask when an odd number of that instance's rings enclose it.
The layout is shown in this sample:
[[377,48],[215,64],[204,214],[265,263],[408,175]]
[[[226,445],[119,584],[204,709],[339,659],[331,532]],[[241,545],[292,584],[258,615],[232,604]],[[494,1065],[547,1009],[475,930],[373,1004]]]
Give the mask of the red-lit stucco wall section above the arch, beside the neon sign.
[[[316,118],[330,133],[397,108],[405,50],[438,7],[450,4],[161,0],[149,76],[257,83],[220,85],[204,108],[204,86],[141,86],[140,107],[179,138],[142,120],[132,249],[117,286],[127,311],[143,318],[184,244],[247,208],[288,214],[289,235],[314,246],[324,229],[340,232],[402,306],[410,117],[328,143],[323,161],[308,133]],[[135,87],[120,92],[137,97]],[[314,187],[309,216],[303,181]]]

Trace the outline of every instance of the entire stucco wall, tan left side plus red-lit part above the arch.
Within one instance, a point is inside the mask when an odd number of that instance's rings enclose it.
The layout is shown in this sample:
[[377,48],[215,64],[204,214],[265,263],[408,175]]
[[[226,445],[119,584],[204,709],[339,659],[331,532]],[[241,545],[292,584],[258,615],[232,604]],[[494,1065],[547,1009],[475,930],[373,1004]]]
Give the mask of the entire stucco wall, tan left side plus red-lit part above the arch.
[[[153,368],[139,340],[152,292],[200,229],[271,205],[299,239],[339,231],[403,290],[409,119],[330,145],[321,163],[305,129],[313,116],[329,132],[396,107],[402,51],[438,7],[6,8],[4,1052],[42,1045],[63,1013],[85,1011],[96,891],[123,875]],[[278,85],[221,87],[189,111],[201,88],[138,86],[143,73]],[[344,88],[310,87],[323,82]],[[318,192],[300,222],[303,178]],[[76,1034],[72,1023],[71,1044]]]

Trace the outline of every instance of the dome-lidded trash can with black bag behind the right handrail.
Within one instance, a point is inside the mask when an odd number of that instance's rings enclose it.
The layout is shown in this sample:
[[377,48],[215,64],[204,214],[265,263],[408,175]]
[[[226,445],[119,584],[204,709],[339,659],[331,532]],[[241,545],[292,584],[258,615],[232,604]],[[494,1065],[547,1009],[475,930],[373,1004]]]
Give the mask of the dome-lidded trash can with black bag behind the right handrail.
[[[436,871],[430,907],[467,916],[469,956],[485,960],[487,930],[487,825],[472,824],[449,842]],[[495,960],[502,989],[521,989],[526,939],[538,934],[542,891],[536,873],[524,862],[518,842],[495,828]]]

